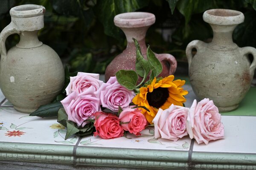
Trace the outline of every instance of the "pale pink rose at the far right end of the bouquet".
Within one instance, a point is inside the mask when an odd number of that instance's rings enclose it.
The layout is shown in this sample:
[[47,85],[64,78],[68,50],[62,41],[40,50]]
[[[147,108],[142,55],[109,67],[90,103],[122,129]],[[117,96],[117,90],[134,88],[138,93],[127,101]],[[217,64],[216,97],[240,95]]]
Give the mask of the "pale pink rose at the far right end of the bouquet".
[[203,99],[198,104],[194,100],[187,118],[187,132],[191,139],[198,144],[208,144],[210,140],[224,138],[224,126],[221,123],[221,114],[212,100]]

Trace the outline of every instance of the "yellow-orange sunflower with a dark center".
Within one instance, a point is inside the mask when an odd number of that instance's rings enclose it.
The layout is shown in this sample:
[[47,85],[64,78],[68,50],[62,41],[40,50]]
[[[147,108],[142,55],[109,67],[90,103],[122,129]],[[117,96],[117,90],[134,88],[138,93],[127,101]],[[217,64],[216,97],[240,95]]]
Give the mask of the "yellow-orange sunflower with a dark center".
[[149,123],[152,124],[159,108],[165,110],[172,104],[183,106],[186,102],[184,95],[188,94],[188,91],[181,88],[185,80],[173,79],[173,75],[163,79],[154,78],[150,84],[145,83],[145,87],[141,87],[140,93],[132,100],[135,105],[144,106],[149,110],[140,108]]

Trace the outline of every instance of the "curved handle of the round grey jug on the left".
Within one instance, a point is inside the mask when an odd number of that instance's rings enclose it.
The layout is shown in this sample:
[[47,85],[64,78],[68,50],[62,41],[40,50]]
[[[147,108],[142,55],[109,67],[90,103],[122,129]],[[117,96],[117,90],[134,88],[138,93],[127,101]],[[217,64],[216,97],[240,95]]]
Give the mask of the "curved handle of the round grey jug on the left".
[[1,58],[6,57],[6,38],[11,34],[19,34],[19,31],[16,30],[14,27],[14,24],[11,22],[8,26],[3,28],[3,30],[0,33],[0,55]]

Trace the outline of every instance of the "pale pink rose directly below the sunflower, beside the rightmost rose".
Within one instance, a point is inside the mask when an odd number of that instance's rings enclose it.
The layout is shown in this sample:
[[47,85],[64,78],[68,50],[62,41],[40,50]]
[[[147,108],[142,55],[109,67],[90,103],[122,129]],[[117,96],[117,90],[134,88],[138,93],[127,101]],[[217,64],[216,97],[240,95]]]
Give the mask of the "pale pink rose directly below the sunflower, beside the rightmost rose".
[[155,138],[177,141],[186,136],[186,119],[188,108],[171,105],[168,109],[158,110],[153,119]]

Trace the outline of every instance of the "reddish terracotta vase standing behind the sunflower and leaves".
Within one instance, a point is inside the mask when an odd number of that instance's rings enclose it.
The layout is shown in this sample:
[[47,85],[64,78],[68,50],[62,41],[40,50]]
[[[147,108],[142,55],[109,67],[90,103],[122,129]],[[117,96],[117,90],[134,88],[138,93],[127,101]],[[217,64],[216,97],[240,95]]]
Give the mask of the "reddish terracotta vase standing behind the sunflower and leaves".
[[[141,48],[141,52],[146,58],[147,47],[145,44],[145,35],[148,28],[154,24],[154,14],[147,12],[128,12],[118,14],[114,17],[114,23],[117,27],[121,28],[125,33],[127,39],[126,49],[116,56],[113,61],[108,65],[105,71],[105,81],[110,77],[115,76],[116,72],[123,70],[135,70],[136,62],[136,47],[132,38],[135,38]],[[156,57],[163,65],[163,71],[159,77],[166,77],[174,74],[177,68],[177,61],[171,54],[156,54]],[[139,81],[142,78],[139,77]]]

